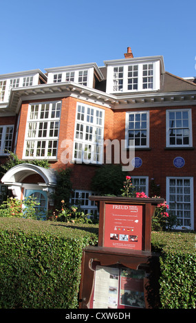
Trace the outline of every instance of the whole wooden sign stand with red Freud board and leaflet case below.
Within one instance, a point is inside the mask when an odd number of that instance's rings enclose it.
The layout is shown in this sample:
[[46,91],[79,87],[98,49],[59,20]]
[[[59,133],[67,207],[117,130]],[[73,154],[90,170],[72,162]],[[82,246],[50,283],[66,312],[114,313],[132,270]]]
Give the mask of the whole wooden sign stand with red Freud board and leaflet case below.
[[151,252],[151,217],[164,199],[89,198],[99,210],[98,247],[83,250],[79,307],[157,307],[159,255]]

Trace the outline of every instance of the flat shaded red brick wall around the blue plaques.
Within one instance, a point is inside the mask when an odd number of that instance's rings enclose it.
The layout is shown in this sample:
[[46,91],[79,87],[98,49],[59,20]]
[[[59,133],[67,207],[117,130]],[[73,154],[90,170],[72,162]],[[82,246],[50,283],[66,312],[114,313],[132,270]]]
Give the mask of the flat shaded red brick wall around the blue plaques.
[[[192,109],[193,147],[195,147],[195,107],[187,106],[183,108]],[[133,171],[130,172],[130,175],[149,176],[149,182],[151,178],[154,178],[155,182],[157,184],[160,184],[161,194],[164,198],[166,197],[166,177],[195,177],[196,175],[195,149],[166,148],[166,109],[171,109],[171,107],[155,107],[147,109],[130,110],[130,112],[149,111],[150,119],[149,149],[135,149],[135,157],[140,157],[142,159],[142,166],[140,168],[135,168]],[[173,109],[182,109],[182,107],[173,107]],[[126,111],[114,111],[114,137],[118,137],[120,140],[124,139]],[[185,160],[185,165],[183,168],[175,168],[175,166],[173,166],[173,159],[178,156],[183,157]],[[196,181],[194,189],[196,190]]]

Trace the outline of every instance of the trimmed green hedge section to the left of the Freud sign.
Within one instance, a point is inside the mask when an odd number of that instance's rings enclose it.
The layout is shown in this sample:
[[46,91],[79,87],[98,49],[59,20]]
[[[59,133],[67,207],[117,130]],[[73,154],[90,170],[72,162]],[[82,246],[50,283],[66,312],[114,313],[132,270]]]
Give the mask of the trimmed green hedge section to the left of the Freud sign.
[[78,307],[82,249],[97,227],[0,219],[0,308]]

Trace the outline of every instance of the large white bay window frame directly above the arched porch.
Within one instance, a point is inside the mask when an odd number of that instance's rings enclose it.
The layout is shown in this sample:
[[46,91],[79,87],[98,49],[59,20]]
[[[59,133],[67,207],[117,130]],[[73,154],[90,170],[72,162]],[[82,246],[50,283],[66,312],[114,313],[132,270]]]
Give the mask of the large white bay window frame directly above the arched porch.
[[[55,109],[53,109],[55,104]],[[60,104],[60,109],[57,109]],[[34,106],[34,111],[32,107]],[[42,110],[42,106],[45,106]],[[36,109],[36,107],[38,107]],[[48,107],[48,109],[47,109]],[[56,117],[56,112],[58,117]],[[54,117],[52,117],[54,115]],[[47,118],[45,118],[47,117]],[[52,127],[52,123],[53,127]],[[58,128],[56,125],[58,123]],[[61,123],[61,101],[35,102],[28,107],[28,118],[25,129],[25,144],[23,159],[57,159],[58,137]],[[57,131],[57,135],[54,135]],[[51,135],[53,133],[53,135]],[[54,142],[56,143],[54,146]],[[38,146],[38,144],[40,146]],[[49,155],[50,151],[56,151],[56,155]],[[29,154],[27,155],[27,151]],[[38,154],[39,151],[39,155]],[[44,152],[44,154],[43,154]],[[42,155],[43,154],[43,155]]]

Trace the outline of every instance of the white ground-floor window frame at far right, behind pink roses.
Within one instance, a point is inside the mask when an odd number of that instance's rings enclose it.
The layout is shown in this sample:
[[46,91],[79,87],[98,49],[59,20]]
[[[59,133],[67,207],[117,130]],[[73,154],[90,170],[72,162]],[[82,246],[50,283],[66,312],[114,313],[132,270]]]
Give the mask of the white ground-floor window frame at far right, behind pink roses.
[[[171,201],[171,199],[170,199],[170,180],[171,179],[174,179],[175,181],[176,181],[176,183],[177,183],[177,180],[179,179],[179,180],[186,180],[186,179],[188,179],[189,181],[190,181],[190,194],[188,194],[189,196],[190,196],[190,201]],[[184,188],[184,186],[177,186],[177,185],[175,185],[175,186],[173,186],[173,187],[175,187],[175,188],[177,188],[177,187],[183,187]],[[186,187],[186,186],[185,186]],[[187,186],[188,187],[188,186]],[[175,195],[175,196],[179,196],[180,194],[179,194],[179,192],[177,192],[177,191],[175,191],[175,193],[173,192],[171,192],[171,195]],[[169,210],[171,211],[171,210],[175,210],[176,212],[177,212],[177,210],[178,211],[182,211],[182,212],[184,212],[184,211],[187,211],[188,209],[180,209],[180,208],[177,208],[177,203],[184,203],[184,204],[188,204],[189,203],[189,205],[190,205],[190,226],[189,225],[178,225],[178,226],[176,226],[175,227],[175,229],[177,229],[177,230],[181,230],[183,227],[186,227],[186,228],[188,228],[188,229],[190,229],[190,230],[194,230],[194,194],[193,194],[193,177],[173,177],[173,176],[168,176],[168,177],[166,177],[166,201],[167,201],[167,203],[168,203],[168,205],[169,205]],[[171,203],[175,203],[175,209],[172,209],[171,208]],[[177,213],[175,213],[175,214],[177,214]],[[183,213],[184,214],[184,213]],[[180,217],[179,217],[180,218]],[[189,218],[185,218],[184,217],[184,215],[182,216],[182,221],[184,222],[184,219],[189,219]]]

